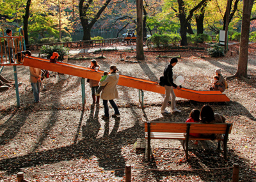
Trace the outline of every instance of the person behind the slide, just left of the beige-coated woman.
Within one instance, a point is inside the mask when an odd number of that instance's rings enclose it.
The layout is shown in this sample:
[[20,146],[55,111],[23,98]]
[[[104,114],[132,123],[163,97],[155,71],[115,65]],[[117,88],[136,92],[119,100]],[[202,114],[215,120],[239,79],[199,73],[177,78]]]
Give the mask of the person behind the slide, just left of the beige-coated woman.
[[[95,70],[95,72],[97,72],[97,70],[100,70],[100,65],[97,63],[97,61],[95,59],[93,59],[90,62],[89,68],[92,68],[92,69]],[[93,100],[93,103],[99,104],[100,103],[100,96],[97,96],[97,100],[96,100],[96,96],[95,96],[95,94],[97,93],[97,89],[99,88],[99,80],[92,80],[92,79],[90,79],[89,85],[90,85],[90,87],[92,89],[92,100]]]

